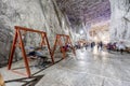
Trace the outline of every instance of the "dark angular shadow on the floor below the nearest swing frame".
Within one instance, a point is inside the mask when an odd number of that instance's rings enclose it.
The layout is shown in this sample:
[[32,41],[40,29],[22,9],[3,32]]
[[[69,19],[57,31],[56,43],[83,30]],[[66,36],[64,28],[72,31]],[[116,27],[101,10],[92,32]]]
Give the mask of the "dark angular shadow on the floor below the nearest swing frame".
[[35,86],[43,76],[44,75],[37,75],[30,77],[10,80],[10,81],[5,81],[5,84],[12,82],[18,82],[18,83],[24,83],[22,86]]

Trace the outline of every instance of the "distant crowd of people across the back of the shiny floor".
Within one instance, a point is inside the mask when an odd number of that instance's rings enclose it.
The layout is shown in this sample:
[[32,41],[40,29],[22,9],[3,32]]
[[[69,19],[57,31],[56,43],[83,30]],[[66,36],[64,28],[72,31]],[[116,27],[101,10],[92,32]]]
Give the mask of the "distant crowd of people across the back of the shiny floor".
[[90,47],[91,49],[93,49],[95,47],[95,45],[98,47],[98,51],[106,49],[108,53],[114,51],[114,52],[120,52],[120,54],[122,54],[128,48],[122,41],[114,42],[114,43],[109,42],[107,44],[104,44],[102,41],[98,42],[98,43],[95,43],[95,42],[76,43],[75,48],[80,49],[82,47],[86,47],[86,49],[88,49],[88,47]]

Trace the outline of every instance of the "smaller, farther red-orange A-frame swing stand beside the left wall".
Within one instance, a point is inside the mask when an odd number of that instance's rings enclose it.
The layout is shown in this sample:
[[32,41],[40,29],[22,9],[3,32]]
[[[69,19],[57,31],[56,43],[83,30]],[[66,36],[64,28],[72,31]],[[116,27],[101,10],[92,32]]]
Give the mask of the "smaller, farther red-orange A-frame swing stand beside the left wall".
[[[53,49],[52,49],[52,56],[53,56],[53,58],[54,58],[54,52],[55,52],[55,49],[56,49],[57,44],[58,44],[61,47],[63,46],[62,38],[66,38],[66,40],[65,40],[65,45],[69,43],[69,44],[72,45],[72,49],[73,49],[74,55],[76,55],[75,48],[74,48],[74,46],[73,46],[73,44],[72,44],[72,41],[70,41],[69,35],[66,35],[66,34],[56,34],[54,47],[53,47]],[[60,49],[60,51],[62,51],[63,59],[64,59],[64,58],[65,58],[65,55],[66,55],[66,52],[65,52],[64,48],[62,48],[62,49]]]

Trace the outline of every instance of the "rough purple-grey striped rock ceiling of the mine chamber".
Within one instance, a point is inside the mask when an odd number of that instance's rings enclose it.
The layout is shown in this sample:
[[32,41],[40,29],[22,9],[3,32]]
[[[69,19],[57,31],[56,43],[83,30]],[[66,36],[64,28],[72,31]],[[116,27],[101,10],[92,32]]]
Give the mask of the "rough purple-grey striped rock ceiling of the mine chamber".
[[110,17],[109,0],[56,0],[72,24],[93,24]]

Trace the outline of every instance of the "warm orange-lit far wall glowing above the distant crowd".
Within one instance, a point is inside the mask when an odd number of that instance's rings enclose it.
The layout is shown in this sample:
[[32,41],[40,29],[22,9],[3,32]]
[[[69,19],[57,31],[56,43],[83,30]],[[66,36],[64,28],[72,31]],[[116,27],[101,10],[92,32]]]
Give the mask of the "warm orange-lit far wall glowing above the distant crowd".
[[104,43],[109,42],[108,29],[109,29],[109,22],[92,25],[90,29],[91,39],[93,39],[93,41],[95,42],[99,41],[103,41]]

